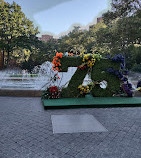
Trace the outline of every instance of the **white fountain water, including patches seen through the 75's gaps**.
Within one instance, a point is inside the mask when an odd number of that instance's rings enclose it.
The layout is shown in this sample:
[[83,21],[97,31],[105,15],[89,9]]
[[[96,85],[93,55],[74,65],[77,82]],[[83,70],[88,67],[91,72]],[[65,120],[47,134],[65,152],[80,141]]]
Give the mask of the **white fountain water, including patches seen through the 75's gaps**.
[[[77,67],[70,67],[67,72],[57,73],[53,71],[52,66],[53,64],[47,61],[36,66],[32,75],[25,70],[0,71],[0,89],[44,90],[49,86],[66,87]],[[58,77],[60,79],[57,79]],[[87,75],[83,84],[88,80],[90,81]]]

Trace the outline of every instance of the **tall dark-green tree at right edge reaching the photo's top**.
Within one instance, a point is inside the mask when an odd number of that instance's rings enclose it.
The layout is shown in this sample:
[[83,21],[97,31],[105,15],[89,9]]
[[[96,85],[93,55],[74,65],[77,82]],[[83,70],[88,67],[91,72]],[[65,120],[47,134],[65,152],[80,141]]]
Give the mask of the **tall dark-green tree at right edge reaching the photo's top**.
[[107,27],[97,31],[97,44],[112,54],[124,54],[126,66],[131,69],[137,62],[134,57],[138,56],[131,46],[141,44],[140,0],[112,0],[111,10],[103,14],[103,21]]

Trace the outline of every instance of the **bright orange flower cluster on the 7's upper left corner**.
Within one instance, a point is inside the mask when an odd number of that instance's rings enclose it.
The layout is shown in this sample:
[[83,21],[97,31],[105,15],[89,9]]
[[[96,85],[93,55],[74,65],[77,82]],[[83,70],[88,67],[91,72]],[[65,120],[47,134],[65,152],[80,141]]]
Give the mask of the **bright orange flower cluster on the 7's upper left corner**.
[[56,56],[53,57],[53,70],[54,71],[61,71],[60,67],[61,67],[61,64],[60,64],[60,59],[62,58],[63,56],[63,53],[56,53]]

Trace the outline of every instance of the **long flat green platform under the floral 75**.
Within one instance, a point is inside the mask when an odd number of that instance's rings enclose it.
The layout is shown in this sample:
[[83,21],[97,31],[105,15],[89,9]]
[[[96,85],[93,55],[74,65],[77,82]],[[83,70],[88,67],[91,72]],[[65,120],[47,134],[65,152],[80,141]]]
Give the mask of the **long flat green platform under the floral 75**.
[[139,106],[141,97],[92,97],[86,95],[85,98],[61,98],[42,99],[44,107],[67,107],[67,106],[87,106],[87,107],[110,107],[110,106]]

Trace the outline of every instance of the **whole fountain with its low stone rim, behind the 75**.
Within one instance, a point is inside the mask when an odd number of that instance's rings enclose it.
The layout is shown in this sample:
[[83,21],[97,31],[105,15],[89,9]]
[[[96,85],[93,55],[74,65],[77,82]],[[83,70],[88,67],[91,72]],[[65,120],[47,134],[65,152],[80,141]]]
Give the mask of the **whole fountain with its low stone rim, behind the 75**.
[[[77,67],[69,67],[67,72],[57,72],[53,71],[52,66],[53,64],[47,61],[35,66],[31,74],[18,69],[0,71],[0,95],[41,96],[41,92],[47,87],[67,87]],[[56,78],[56,73],[60,79]],[[130,82],[132,80],[130,78]],[[91,82],[91,79],[86,75],[83,84],[87,85],[88,82]],[[101,88],[105,88],[104,81],[101,83]],[[136,88],[134,84],[133,88]]]

